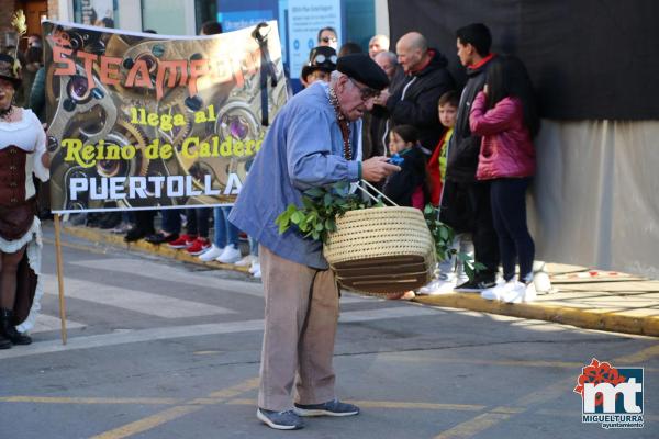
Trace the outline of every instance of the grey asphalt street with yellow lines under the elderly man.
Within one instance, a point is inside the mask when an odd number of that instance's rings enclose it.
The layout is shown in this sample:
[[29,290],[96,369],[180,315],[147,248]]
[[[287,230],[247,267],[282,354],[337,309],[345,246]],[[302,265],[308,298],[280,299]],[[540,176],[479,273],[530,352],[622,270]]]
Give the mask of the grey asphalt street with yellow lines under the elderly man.
[[[260,283],[64,236],[63,347],[45,234],[34,344],[0,351],[0,438],[659,437],[656,338],[354,294],[335,369],[362,413],[275,431],[255,417]],[[645,428],[581,423],[572,389],[592,358],[645,368]]]

